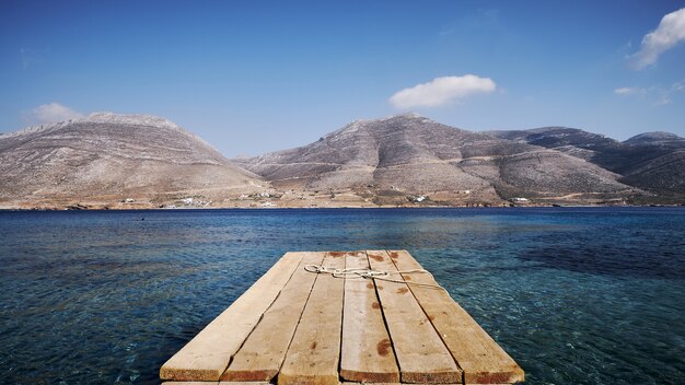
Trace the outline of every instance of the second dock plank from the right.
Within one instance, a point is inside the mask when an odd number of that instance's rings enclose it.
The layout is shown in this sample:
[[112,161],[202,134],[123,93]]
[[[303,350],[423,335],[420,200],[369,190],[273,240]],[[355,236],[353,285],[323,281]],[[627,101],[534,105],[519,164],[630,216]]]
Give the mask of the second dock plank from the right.
[[[386,252],[369,250],[367,254],[372,269],[397,271]],[[461,383],[462,371],[407,284],[376,280],[376,288],[402,382]]]

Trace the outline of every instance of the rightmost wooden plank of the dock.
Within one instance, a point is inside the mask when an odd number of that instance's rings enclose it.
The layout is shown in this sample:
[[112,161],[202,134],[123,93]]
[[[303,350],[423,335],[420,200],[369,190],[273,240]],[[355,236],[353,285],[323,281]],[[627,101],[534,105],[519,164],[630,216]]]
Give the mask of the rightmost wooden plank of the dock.
[[[398,270],[421,269],[409,253],[391,252]],[[430,275],[410,273],[411,282],[438,284]],[[431,319],[450,353],[464,371],[466,384],[504,384],[524,381],[523,370],[507,352],[443,290],[409,285]]]

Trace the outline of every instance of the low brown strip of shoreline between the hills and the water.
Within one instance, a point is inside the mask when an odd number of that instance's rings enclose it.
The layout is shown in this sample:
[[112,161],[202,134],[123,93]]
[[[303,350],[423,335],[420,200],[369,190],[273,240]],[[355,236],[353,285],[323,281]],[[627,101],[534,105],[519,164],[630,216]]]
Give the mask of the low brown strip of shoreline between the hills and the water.
[[129,191],[62,196],[3,197],[0,210],[177,210],[177,209],[396,209],[396,208],[516,208],[516,207],[654,207],[685,206],[685,196],[649,192],[583,192],[565,195],[497,196],[481,191],[353,189],[194,189],[179,191]]

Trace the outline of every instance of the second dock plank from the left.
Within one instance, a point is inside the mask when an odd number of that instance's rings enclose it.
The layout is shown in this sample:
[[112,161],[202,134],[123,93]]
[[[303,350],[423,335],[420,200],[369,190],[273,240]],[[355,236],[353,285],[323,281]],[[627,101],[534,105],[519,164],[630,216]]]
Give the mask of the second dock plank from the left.
[[317,275],[305,265],[321,265],[324,253],[307,253],[280,295],[235,353],[222,381],[270,381],[283,363]]

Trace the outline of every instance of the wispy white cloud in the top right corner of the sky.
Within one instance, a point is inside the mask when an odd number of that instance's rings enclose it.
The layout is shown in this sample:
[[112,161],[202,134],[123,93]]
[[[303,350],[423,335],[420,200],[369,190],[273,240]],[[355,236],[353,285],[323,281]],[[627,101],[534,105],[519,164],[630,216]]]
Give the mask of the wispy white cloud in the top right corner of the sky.
[[631,56],[635,68],[641,70],[655,63],[661,54],[682,40],[685,40],[685,8],[663,16],[657,30],[645,35],[640,50]]

